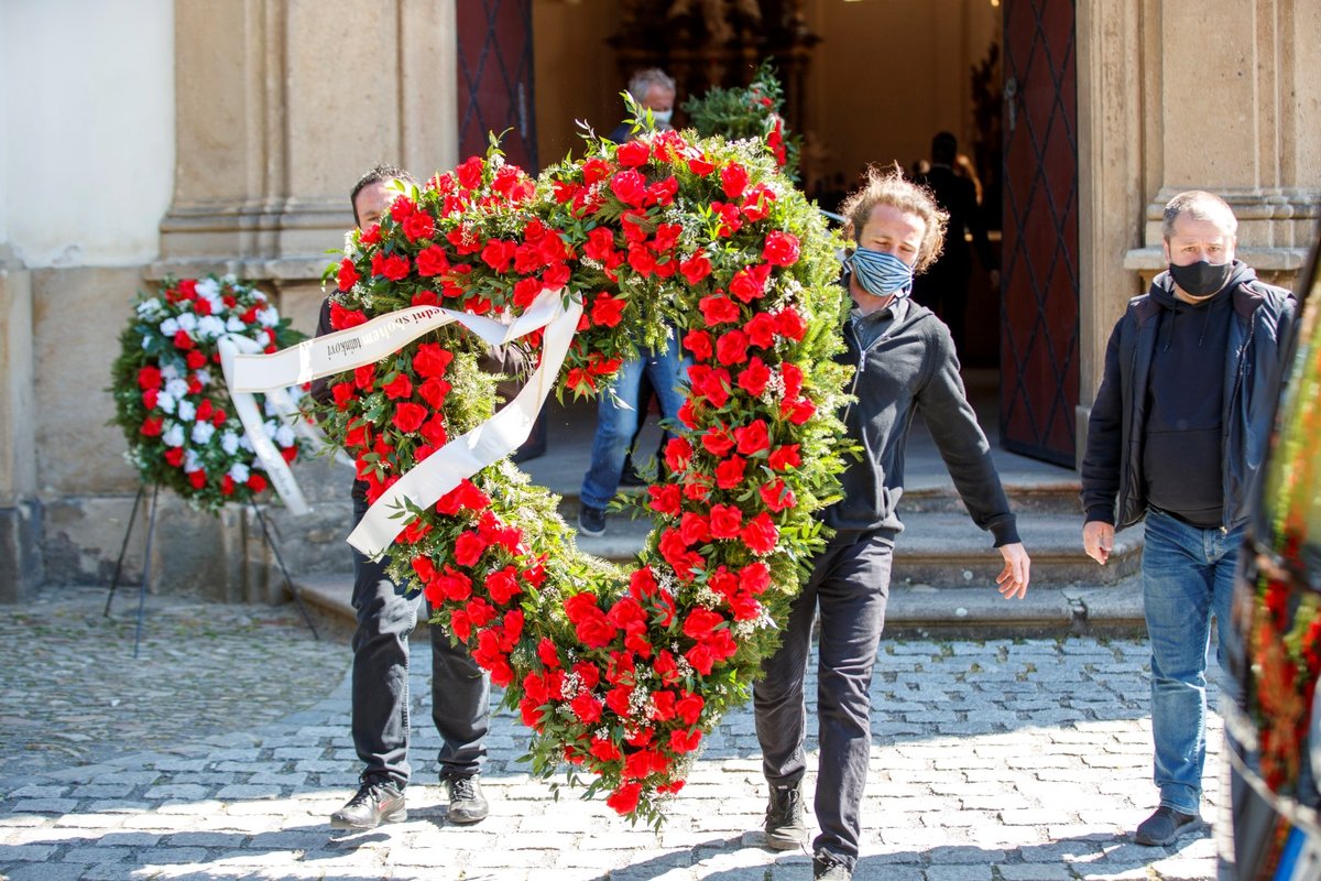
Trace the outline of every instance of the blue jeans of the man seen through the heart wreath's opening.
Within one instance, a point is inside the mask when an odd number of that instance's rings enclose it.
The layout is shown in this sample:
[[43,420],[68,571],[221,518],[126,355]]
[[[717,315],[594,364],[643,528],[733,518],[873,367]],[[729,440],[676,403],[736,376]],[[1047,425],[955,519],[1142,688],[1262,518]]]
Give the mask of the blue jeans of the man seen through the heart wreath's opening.
[[[670,341],[663,351],[645,351],[642,358],[624,362],[614,384],[602,390],[596,405],[596,437],[592,440],[592,464],[583,477],[583,503],[604,509],[620,490],[624,457],[633,442],[638,420],[638,386],[646,372],[660,402],[660,413],[675,419],[683,396],[676,391],[684,379],[683,362],[678,354],[678,339]],[[613,394],[612,394],[613,392]]]

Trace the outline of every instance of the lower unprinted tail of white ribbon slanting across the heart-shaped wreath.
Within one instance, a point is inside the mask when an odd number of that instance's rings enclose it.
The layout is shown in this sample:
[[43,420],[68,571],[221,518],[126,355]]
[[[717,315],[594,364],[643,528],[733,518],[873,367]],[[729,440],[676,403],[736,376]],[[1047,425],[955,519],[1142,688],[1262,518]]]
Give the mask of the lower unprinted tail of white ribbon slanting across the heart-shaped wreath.
[[490,322],[501,329],[498,339],[487,339],[483,334],[483,330],[494,332],[494,328],[480,330],[469,324],[469,318],[474,316],[464,316],[464,325],[487,342],[511,342],[544,328],[542,363],[514,400],[505,404],[499,412],[450,440],[390,486],[367,509],[358,527],[349,535],[349,544],[369,557],[379,557],[407,526],[408,518],[395,516],[396,511],[404,509],[406,499],[423,510],[429,509],[465,477],[472,477],[509,456],[527,440],[532,432],[532,423],[559,376],[560,366],[577,333],[579,317],[583,314],[581,300],[572,299],[565,306],[561,295],[563,289],[543,291],[527,312],[507,328]]

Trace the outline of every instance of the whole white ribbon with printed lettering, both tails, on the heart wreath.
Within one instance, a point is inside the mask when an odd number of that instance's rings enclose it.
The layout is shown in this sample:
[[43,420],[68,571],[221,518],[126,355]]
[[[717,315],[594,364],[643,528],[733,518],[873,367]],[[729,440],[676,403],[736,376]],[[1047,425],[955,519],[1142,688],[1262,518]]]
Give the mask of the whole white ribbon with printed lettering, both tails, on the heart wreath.
[[563,293],[563,288],[543,291],[511,325],[439,306],[400,309],[357,328],[305,339],[275,354],[239,354],[234,358],[232,372],[226,369],[226,382],[230,383],[231,395],[303,384],[375,363],[413,339],[456,321],[493,346],[507,345],[544,328],[542,363],[514,400],[481,425],[450,440],[419,462],[367,510],[358,528],[349,536],[349,544],[376,557],[403,531],[408,519],[400,515],[407,507],[406,499],[410,505],[427,510],[465,477],[472,477],[510,454],[527,440],[532,423],[559,376],[583,314],[583,302],[572,299],[565,306]]

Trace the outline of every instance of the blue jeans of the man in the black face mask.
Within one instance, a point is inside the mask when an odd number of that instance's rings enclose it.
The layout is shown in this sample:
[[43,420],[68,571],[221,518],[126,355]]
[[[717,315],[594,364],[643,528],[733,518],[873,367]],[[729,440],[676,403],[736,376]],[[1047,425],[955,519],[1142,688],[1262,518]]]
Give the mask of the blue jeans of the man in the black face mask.
[[[1182,814],[1201,810],[1211,614],[1229,626],[1242,544],[1242,526],[1203,530],[1164,511],[1147,512],[1143,604],[1152,647],[1155,781],[1160,803]],[[1218,658],[1223,666],[1223,649]]]

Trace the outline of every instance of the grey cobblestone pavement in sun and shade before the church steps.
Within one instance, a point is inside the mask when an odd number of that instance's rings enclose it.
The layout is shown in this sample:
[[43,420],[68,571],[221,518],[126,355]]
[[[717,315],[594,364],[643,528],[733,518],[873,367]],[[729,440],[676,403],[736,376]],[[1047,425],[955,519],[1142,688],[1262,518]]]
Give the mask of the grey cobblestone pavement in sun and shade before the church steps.
[[[346,835],[326,822],[357,775],[346,646],[313,642],[285,609],[178,605],[153,610],[135,663],[131,627],[106,625],[99,605],[33,614],[44,609],[0,614],[11,881],[811,877],[806,853],[758,847],[765,794],[746,709],[708,740],[659,833],[575,793],[552,800],[517,762],[523,730],[499,713],[483,775],[491,815],[454,827],[428,761],[439,738],[419,641],[408,820]],[[1170,848],[1128,839],[1156,803],[1145,663],[1129,639],[886,641],[855,877],[1214,878],[1207,831]],[[1221,804],[1213,722],[1207,820]]]

